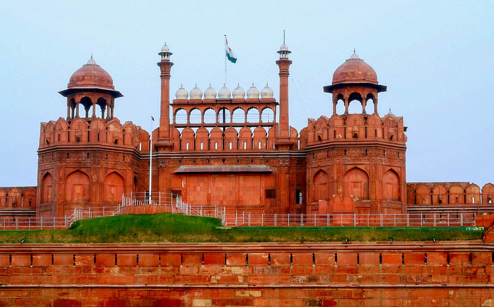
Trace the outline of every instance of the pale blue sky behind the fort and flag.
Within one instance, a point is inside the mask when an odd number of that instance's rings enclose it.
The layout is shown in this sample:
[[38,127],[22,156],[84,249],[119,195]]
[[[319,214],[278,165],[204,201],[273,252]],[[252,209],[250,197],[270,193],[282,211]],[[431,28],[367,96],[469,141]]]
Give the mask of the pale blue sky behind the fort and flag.
[[149,131],[159,116],[158,52],[175,63],[171,97],[224,80],[223,34],[239,61],[228,85],[266,82],[290,59],[290,125],[331,115],[323,86],[357,49],[388,86],[379,113],[404,116],[407,181],[494,181],[493,1],[2,1],[0,186],[35,185],[40,122],[66,116],[57,92],[87,62],[124,94],[115,116]]

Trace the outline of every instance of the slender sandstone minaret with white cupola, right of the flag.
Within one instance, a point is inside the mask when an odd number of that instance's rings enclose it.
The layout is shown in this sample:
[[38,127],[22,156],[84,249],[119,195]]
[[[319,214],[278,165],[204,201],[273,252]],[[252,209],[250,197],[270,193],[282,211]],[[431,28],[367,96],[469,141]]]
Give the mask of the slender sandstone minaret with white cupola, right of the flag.
[[288,122],[288,76],[290,75],[288,68],[291,65],[291,60],[288,59],[288,54],[291,51],[288,50],[287,44],[285,44],[285,34],[283,34],[283,44],[278,51],[280,59],[276,61],[276,64],[280,68],[280,123],[279,123],[279,135],[277,140],[278,148],[288,149],[291,146],[289,142],[290,137],[290,125]]

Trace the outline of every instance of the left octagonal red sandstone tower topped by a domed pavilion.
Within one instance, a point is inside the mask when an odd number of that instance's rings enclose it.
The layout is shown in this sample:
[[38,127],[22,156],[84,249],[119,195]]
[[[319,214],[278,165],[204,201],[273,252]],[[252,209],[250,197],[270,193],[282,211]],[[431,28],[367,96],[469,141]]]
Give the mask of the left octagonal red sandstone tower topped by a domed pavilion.
[[108,208],[118,205],[123,193],[142,190],[138,182],[145,166],[139,158],[141,150],[149,150],[149,136],[114,117],[115,99],[123,95],[110,74],[91,56],[59,93],[67,98],[67,118],[41,123],[37,215]]

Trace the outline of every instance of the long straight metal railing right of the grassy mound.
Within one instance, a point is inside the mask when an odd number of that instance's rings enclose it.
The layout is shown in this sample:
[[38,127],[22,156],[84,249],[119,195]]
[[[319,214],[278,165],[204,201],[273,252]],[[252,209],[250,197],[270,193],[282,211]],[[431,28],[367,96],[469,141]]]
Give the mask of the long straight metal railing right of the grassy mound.
[[225,214],[226,227],[470,227],[475,212],[407,214]]

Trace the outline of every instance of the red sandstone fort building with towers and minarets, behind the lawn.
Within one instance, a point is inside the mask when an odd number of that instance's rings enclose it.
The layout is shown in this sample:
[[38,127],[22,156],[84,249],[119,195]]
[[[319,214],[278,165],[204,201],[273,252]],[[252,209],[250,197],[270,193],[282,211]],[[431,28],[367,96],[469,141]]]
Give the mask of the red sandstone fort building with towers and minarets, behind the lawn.
[[[59,92],[66,115],[41,123],[38,186],[0,188],[0,214],[65,216],[148,190],[150,137],[152,191],[180,195],[191,205],[308,214],[492,209],[492,183],[407,183],[407,127],[391,111],[379,115],[378,94],[386,86],[356,53],[323,87],[332,95],[332,114],[309,118],[299,132],[291,127],[292,61],[285,43],[278,54],[278,101],[268,85],[260,91],[252,85],[247,95],[240,86],[217,93],[209,86],[204,94],[197,86],[190,92],[180,87],[170,101],[172,53],[163,46],[161,114],[151,136],[114,117],[123,95],[91,57]],[[350,114],[350,103],[362,112]]]

